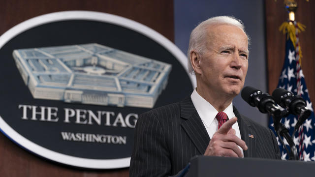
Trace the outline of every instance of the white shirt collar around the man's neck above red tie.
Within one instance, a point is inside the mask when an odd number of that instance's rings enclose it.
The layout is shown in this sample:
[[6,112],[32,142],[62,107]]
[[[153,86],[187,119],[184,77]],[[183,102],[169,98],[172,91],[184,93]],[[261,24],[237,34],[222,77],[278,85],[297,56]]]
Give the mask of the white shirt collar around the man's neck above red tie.
[[[201,120],[209,127],[211,122],[216,118],[218,111],[207,100],[200,96],[196,89],[193,89],[190,98]],[[232,103],[223,112],[228,118],[235,117]]]

